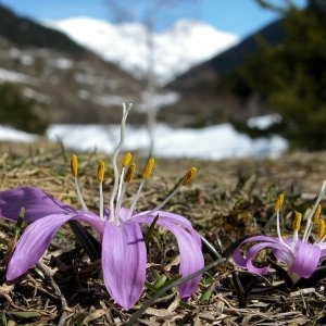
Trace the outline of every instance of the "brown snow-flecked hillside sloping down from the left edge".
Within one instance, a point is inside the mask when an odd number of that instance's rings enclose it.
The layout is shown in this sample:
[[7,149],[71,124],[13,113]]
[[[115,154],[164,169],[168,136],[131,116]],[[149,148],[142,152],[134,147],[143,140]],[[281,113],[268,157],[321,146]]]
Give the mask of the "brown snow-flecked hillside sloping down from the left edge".
[[116,65],[3,5],[0,15],[0,83],[33,98],[45,121],[117,122],[121,103],[138,100],[138,80]]

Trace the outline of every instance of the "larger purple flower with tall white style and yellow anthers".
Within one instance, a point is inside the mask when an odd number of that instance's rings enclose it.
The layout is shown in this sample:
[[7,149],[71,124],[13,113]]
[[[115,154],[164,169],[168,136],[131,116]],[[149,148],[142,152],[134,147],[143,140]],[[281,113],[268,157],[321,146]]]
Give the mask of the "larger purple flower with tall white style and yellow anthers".
[[[123,145],[127,113],[128,110],[124,106],[121,142],[113,154],[115,183],[108,209],[104,209],[102,193],[104,164],[99,163],[99,215],[87,209],[82,197],[77,180],[78,161],[75,155],[72,158],[72,173],[83,210],[74,210],[38,188],[22,187],[0,192],[0,214],[5,218],[16,220],[23,206],[25,220],[30,223],[17,241],[9,262],[8,280],[14,280],[32,268],[41,259],[58,229],[73,220],[89,224],[99,235],[102,243],[101,261],[105,287],[111,297],[125,310],[130,309],[138,301],[146,279],[147,249],[141,226],[150,225],[156,216],[159,216],[156,225],[170,230],[176,237],[180,253],[180,275],[187,276],[203,267],[201,239],[190,222],[184,216],[161,210],[180,186],[191,181],[197,168],[190,168],[173,193],[155,209],[137,213],[135,206],[140,190],[150,176],[154,163],[154,160],[150,159],[142,172],[142,179],[133,203],[128,209],[122,206],[126,187],[136,170],[136,164],[130,164],[130,153],[127,153],[122,161],[120,174],[116,165],[116,155]],[[178,292],[181,299],[187,299],[192,294],[200,278],[200,276],[196,277],[179,286]]]

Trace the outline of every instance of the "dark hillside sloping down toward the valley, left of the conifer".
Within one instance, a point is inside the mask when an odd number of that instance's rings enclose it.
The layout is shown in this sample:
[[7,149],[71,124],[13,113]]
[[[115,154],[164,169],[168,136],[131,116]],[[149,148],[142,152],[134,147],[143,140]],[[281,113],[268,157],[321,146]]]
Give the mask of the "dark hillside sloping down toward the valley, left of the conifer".
[[233,48],[179,75],[166,87],[180,93],[180,100],[164,108],[161,118],[200,127],[228,121],[235,115],[246,120],[268,113],[268,109],[254,97],[246,103],[236,98],[222,85],[221,77],[231,74],[249,55],[255,53],[261,39],[275,45],[284,37],[281,21],[276,21]]

